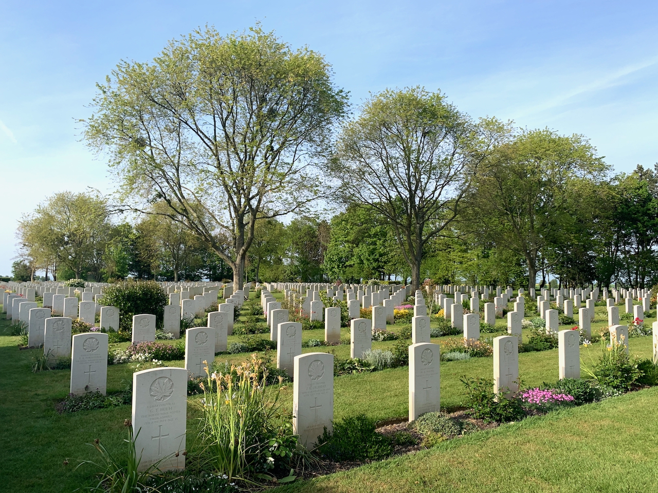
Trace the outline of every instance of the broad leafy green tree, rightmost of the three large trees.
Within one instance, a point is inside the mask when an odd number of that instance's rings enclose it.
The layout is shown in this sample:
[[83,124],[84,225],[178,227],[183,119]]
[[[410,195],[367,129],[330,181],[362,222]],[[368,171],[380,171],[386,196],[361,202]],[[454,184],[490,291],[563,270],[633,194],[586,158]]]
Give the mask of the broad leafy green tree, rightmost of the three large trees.
[[551,268],[559,258],[547,263],[549,250],[573,239],[576,185],[602,179],[606,170],[582,135],[520,131],[497,145],[478,168],[462,224],[483,241],[522,256],[528,288],[534,288],[538,270]]

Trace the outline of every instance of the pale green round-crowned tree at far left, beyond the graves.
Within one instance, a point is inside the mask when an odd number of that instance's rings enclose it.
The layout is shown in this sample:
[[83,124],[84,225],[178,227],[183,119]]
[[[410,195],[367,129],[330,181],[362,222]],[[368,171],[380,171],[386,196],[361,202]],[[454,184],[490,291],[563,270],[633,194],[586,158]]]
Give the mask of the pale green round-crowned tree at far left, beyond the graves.
[[76,279],[89,273],[99,281],[112,230],[105,200],[61,192],[23,216],[18,237],[39,267],[54,264],[72,271]]

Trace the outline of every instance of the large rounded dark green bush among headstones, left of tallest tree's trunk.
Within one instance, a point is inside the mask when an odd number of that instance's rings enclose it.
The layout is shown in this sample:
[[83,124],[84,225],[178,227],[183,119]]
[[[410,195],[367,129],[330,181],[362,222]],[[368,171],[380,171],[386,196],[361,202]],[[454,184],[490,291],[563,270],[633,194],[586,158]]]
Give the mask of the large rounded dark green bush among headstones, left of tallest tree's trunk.
[[164,316],[169,298],[155,281],[123,281],[103,289],[101,303],[119,309],[119,330],[132,333],[132,317],[140,314]]

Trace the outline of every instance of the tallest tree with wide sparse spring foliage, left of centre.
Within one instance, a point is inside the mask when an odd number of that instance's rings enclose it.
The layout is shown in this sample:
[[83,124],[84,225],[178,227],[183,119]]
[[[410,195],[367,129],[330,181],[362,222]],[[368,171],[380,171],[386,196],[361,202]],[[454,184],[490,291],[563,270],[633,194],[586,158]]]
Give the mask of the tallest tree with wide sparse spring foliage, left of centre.
[[99,90],[84,136],[109,154],[122,199],[141,212],[164,200],[232,268],[236,288],[257,220],[315,199],[311,165],[347,105],[321,55],[259,26],[196,31],[153,64],[121,62]]

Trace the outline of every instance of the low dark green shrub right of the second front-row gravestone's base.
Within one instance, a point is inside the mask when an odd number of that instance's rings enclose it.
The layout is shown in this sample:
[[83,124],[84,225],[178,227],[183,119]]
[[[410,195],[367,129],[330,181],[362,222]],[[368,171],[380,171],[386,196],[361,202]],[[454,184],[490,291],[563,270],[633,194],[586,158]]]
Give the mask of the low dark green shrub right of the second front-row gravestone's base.
[[393,453],[392,439],[376,432],[374,419],[365,414],[334,422],[334,431],[318,436],[316,452],[333,461],[382,460]]

